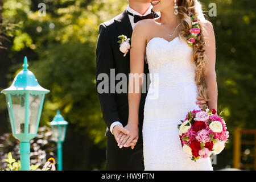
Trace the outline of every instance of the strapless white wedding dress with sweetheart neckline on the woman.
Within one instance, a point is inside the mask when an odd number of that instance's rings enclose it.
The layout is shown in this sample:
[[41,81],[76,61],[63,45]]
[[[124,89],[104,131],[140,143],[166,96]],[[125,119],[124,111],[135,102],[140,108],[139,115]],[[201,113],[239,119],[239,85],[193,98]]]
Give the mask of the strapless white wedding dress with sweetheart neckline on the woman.
[[144,106],[145,170],[213,170],[210,158],[194,162],[184,154],[177,129],[188,111],[199,109],[192,47],[179,37],[171,42],[152,38],[146,57],[152,75]]

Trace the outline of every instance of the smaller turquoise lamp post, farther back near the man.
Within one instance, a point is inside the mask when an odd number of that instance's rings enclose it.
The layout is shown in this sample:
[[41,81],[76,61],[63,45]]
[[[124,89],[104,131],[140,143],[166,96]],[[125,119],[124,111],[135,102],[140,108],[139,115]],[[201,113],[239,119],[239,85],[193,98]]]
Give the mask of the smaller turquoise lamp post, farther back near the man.
[[62,171],[62,143],[65,140],[68,122],[62,117],[60,110],[57,110],[57,114],[50,125],[52,126],[53,138],[57,143],[57,169]]

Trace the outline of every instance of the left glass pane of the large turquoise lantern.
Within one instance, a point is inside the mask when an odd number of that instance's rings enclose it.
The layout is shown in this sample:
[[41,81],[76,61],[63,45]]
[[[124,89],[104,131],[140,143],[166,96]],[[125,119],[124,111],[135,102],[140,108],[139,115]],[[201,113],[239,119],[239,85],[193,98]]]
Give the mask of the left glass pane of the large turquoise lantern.
[[11,105],[13,107],[13,119],[16,134],[24,133],[25,130],[25,103],[26,94],[11,94]]

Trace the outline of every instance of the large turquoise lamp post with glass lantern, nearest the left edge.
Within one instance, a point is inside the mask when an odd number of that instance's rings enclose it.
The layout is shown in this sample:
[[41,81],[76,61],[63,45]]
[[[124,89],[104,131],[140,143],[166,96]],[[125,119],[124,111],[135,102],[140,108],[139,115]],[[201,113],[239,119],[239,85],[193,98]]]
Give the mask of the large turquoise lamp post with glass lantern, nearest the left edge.
[[11,131],[20,141],[22,171],[30,169],[30,140],[38,133],[44,96],[49,93],[49,90],[38,84],[38,80],[27,67],[27,57],[24,57],[23,70],[16,75],[13,84],[1,92],[6,96]]

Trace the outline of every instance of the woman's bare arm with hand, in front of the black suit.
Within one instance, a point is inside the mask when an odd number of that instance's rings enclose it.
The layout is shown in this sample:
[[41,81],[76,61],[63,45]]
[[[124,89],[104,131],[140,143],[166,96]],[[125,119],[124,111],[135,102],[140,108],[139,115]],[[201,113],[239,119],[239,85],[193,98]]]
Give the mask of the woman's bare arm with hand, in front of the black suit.
[[[119,147],[129,146],[133,139],[138,140],[139,130],[139,103],[141,101],[141,88],[144,73],[144,55],[146,51],[146,32],[144,22],[138,22],[131,36],[130,49],[130,75],[129,75],[129,118],[125,126],[129,130],[129,135],[122,136]],[[137,80],[137,81],[136,81]],[[139,80],[139,81],[138,81]],[[135,145],[134,145],[135,146]],[[134,146],[132,148],[134,148]]]

